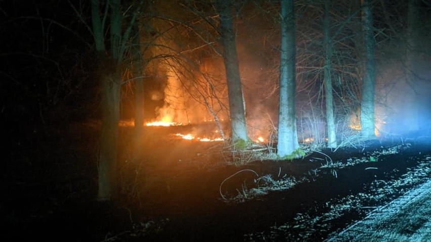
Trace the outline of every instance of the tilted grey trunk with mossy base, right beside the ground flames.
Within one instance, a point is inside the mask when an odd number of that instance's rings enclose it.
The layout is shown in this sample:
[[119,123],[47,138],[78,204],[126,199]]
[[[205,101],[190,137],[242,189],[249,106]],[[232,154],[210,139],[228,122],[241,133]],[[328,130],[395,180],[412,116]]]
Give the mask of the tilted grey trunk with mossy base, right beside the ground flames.
[[221,44],[223,45],[223,59],[228,84],[232,142],[237,143],[240,140],[248,142],[244,98],[239,75],[235,33],[233,31],[231,2],[230,0],[217,0],[215,3],[220,14]]

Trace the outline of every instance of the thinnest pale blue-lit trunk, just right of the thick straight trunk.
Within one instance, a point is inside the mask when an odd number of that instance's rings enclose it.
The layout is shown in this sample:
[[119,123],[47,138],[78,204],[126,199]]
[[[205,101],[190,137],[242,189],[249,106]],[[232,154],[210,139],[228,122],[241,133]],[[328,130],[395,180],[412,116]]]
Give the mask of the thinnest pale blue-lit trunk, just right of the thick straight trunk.
[[328,148],[336,148],[337,140],[335,136],[334,108],[332,99],[332,80],[331,80],[331,58],[332,58],[332,41],[329,36],[329,7],[330,0],[325,2],[325,15],[323,18],[324,45],[325,55],[325,94],[326,94],[326,129],[328,134]]

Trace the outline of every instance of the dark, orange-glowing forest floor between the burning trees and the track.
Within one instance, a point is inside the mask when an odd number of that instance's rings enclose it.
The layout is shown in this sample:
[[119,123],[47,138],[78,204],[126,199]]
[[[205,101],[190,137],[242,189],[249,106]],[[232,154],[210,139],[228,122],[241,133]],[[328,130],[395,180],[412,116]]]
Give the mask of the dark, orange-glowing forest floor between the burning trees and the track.
[[[265,159],[265,146],[232,153],[222,143],[172,135],[190,128],[147,128],[142,159],[131,159],[131,130],[121,128],[115,203],[95,202],[97,124],[11,131],[0,177],[2,234],[45,241],[321,241],[431,177],[431,140],[423,136],[273,161]],[[421,219],[402,235],[417,234]]]

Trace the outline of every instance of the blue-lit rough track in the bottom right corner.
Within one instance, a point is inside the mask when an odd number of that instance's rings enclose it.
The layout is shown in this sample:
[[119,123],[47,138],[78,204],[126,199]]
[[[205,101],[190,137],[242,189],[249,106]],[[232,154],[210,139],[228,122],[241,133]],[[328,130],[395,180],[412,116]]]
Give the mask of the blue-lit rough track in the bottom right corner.
[[431,180],[325,241],[431,241]]

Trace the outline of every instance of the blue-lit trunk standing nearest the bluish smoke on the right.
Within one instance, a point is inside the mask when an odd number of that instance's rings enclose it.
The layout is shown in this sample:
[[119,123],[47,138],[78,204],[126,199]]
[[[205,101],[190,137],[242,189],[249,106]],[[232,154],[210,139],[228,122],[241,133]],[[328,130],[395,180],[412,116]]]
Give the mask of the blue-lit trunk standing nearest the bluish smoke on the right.
[[375,85],[375,60],[374,60],[374,33],[372,1],[362,0],[363,29],[365,43],[365,73],[362,82],[361,102],[361,132],[366,139],[375,138],[374,128],[374,85]]

